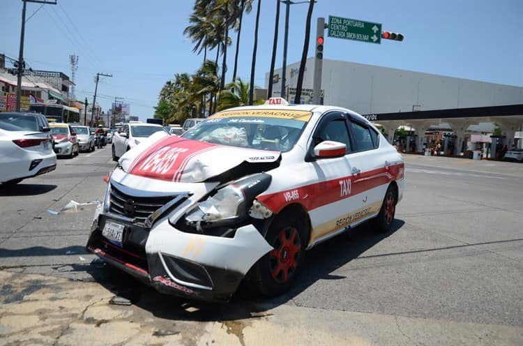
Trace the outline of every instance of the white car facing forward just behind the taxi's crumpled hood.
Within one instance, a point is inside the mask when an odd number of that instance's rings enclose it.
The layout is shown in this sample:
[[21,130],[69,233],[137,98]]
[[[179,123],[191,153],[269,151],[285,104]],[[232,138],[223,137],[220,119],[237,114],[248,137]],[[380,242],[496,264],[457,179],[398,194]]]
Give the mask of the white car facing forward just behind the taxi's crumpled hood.
[[124,124],[114,133],[112,138],[112,159],[118,160],[126,151],[134,148],[142,140],[156,132],[168,134],[163,126],[156,123],[132,122]]

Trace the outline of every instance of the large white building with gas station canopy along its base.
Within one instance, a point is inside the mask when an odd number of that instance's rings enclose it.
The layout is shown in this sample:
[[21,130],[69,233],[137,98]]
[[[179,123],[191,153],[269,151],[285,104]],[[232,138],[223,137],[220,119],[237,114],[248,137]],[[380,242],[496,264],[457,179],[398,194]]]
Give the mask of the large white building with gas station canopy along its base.
[[[291,103],[299,66],[299,62],[287,66],[284,97]],[[330,59],[323,60],[322,70],[323,103],[346,107],[378,121],[388,130],[389,140],[397,126],[412,126],[425,133],[430,126],[448,123],[457,134],[459,150],[471,125],[496,121],[510,142],[523,123],[523,87]],[[266,73],[265,87],[273,81],[272,96],[280,96],[281,73],[281,68],[271,78]],[[302,103],[310,103],[313,77],[314,58],[309,58]],[[423,135],[416,141],[420,150]]]

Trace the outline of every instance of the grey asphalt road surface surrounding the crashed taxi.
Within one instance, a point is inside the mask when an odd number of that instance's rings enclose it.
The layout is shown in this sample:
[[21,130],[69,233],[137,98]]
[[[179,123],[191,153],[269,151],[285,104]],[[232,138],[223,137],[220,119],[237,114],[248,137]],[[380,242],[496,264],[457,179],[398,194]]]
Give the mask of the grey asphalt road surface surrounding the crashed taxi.
[[[425,156],[405,156],[405,161],[407,185],[393,232],[377,235],[363,225],[331,239],[307,253],[289,294],[260,300],[242,287],[232,303],[207,307],[218,315],[183,315],[180,330],[195,331],[193,324],[202,320],[227,320],[227,335],[245,345],[246,324],[238,325],[261,311],[274,315],[267,323],[277,320],[278,326],[301,328],[305,335],[321,329],[340,337],[321,338],[324,345],[339,340],[344,345],[522,345],[523,164]],[[179,322],[180,315],[169,314],[161,303],[174,298],[85,253],[94,204],[50,212],[72,200],[101,200],[103,177],[112,167],[107,146],[59,159],[50,174],[0,187],[1,272],[31,280],[30,274],[66,278],[75,287],[101,285],[112,292],[130,289],[139,296],[136,314]],[[22,291],[31,291],[31,280],[20,284]],[[4,286],[4,303],[6,292]],[[206,310],[205,304],[199,308]],[[6,313],[0,310],[0,336]],[[354,335],[358,338],[349,343]]]

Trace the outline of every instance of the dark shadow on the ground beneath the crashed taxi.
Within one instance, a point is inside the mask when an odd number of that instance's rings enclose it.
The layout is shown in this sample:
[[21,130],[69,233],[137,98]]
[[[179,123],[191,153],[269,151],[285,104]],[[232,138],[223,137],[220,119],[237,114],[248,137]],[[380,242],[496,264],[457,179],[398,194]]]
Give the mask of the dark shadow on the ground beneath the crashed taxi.
[[220,322],[259,318],[267,316],[267,310],[287,303],[317,280],[344,279],[331,273],[400,230],[402,225],[404,221],[395,220],[391,232],[376,234],[370,225],[364,224],[313,248],[308,251],[303,270],[291,291],[275,298],[256,296],[248,285],[243,284],[228,303],[191,301],[156,292],[101,260],[95,260],[88,266],[78,266],[76,270],[86,271],[115,295],[129,299],[135,306],[163,319]]

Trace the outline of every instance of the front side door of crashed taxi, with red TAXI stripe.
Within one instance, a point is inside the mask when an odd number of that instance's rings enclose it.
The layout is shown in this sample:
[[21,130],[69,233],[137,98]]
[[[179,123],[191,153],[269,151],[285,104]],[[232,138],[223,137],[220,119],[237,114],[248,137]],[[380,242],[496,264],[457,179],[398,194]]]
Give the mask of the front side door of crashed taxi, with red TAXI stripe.
[[317,196],[312,196],[319,202],[310,210],[311,244],[352,225],[356,213],[363,207],[361,198],[352,188],[359,159],[351,157],[353,150],[348,126],[347,114],[331,112],[322,117],[312,135],[310,152],[315,145],[326,140],[344,143],[347,151],[340,157],[310,159],[309,169],[315,172],[319,181]]

